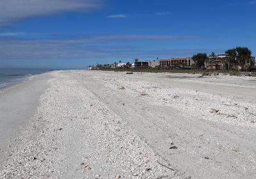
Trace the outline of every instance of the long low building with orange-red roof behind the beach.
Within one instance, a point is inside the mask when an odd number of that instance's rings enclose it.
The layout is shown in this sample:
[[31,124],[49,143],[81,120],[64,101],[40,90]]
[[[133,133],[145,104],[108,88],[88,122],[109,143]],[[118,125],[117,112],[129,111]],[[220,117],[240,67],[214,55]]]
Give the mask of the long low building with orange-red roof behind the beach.
[[159,66],[166,68],[168,66],[175,66],[177,63],[184,63],[186,66],[194,65],[195,62],[191,58],[171,58],[171,59],[159,59]]

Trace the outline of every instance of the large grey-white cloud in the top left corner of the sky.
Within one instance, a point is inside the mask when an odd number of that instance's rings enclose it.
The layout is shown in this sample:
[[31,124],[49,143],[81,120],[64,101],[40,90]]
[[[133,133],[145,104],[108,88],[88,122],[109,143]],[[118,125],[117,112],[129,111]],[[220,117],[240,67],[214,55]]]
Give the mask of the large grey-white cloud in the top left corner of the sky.
[[0,26],[28,17],[61,12],[90,12],[101,5],[102,0],[1,0]]

